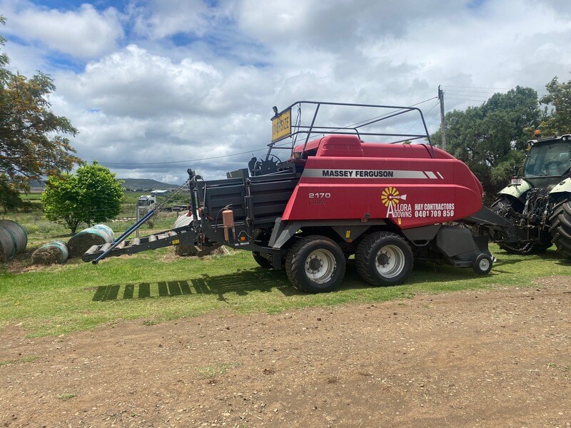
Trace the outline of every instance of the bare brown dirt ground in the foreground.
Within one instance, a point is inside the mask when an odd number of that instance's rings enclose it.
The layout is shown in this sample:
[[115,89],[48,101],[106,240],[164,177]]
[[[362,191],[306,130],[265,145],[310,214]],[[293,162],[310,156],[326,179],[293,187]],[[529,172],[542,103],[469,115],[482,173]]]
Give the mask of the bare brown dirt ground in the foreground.
[[0,424],[570,427],[570,308],[570,277],[549,277],[41,339],[11,326],[0,333]]

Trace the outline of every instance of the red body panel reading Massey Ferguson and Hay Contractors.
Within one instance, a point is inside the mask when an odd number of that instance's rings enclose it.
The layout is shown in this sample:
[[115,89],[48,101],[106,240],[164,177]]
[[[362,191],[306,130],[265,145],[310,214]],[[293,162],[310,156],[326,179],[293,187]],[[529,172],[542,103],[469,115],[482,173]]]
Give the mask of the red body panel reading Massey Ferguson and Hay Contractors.
[[461,161],[423,145],[320,140],[283,220],[382,218],[400,228],[459,220],[482,208],[482,186]]

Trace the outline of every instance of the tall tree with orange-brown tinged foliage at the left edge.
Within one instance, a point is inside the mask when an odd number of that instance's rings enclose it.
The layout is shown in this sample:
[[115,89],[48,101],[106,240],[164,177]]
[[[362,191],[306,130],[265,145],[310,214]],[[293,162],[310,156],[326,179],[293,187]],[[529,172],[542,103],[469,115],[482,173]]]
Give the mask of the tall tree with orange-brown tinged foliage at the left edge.
[[[0,24],[4,24],[0,16]],[[6,39],[0,36],[0,46]],[[29,180],[69,171],[81,160],[62,134],[75,136],[76,128],[51,111],[53,79],[38,72],[32,78],[8,70],[9,58],[0,54],[0,204],[20,200]],[[14,208],[14,207],[13,207]]]

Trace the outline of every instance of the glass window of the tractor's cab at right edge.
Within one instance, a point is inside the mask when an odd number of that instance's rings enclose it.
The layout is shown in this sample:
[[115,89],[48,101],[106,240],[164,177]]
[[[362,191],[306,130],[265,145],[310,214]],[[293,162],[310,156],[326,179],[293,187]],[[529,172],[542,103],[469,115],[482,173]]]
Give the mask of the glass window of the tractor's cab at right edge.
[[560,176],[571,166],[571,144],[554,141],[533,146],[525,159],[524,177]]

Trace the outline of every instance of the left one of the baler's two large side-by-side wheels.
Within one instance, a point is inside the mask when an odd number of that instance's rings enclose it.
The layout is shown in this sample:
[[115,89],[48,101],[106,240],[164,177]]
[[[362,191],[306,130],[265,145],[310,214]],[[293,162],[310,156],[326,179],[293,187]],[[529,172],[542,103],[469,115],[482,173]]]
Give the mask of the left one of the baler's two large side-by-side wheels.
[[[323,269],[323,272],[320,272]],[[322,273],[321,277],[311,277]],[[303,292],[330,292],[345,276],[345,255],[335,241],[320,235],[298,240],[285,259],[285,272],[295,288]]]

